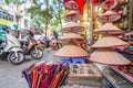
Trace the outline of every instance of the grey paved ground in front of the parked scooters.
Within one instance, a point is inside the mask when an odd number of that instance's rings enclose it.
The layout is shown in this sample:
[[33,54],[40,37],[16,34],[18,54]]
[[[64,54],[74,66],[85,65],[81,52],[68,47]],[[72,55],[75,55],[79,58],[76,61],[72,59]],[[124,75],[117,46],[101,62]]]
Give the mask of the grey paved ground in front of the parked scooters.
[[58,61],[58,58],[53,56],[54,53],[55,52],[44,53],[42,59],[28,59],[23,64],[18,66],[11,65],[8,62],[0,61],[0,88],[28,88],[24,78],[21,77],[21,70],[32,63],[37,63],[40,61]]

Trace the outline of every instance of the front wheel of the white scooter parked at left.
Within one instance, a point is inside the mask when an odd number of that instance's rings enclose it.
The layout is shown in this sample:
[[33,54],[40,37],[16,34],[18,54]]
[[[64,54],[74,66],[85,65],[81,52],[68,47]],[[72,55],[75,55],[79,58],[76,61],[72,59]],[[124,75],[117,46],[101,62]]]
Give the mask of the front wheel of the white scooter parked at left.
[[7,59],[9,62],[11,62],[11,64],[16,64],[16,65],[19,65],[19,64],[23,63],[23,61],[24,61],[23,53],[22,52],[18,52],[17,54],[18,54],[18,57],[16,56],[14,52],[9,53]]

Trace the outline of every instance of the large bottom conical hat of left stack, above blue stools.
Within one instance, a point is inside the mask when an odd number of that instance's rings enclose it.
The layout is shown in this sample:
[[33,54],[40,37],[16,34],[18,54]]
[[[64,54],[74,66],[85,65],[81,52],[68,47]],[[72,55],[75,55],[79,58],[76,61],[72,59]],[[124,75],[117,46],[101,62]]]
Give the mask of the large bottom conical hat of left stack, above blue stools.
[[60,48],[54,56],[58,57],[88,57],[89,54],[82,47],[78,46],[75,43],[64,45]]

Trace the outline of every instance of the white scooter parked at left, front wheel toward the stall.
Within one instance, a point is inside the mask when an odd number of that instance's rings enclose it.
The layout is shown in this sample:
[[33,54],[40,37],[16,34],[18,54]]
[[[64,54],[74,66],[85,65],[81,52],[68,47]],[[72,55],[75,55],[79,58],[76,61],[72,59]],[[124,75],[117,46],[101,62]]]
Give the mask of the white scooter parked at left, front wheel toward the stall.
[[12,34],[6,34],[7,40],[3,41],[0,48],[0,58],[6,57],[12,64],[21,64],[24,61],[24,55],[21,50],[21,44]]

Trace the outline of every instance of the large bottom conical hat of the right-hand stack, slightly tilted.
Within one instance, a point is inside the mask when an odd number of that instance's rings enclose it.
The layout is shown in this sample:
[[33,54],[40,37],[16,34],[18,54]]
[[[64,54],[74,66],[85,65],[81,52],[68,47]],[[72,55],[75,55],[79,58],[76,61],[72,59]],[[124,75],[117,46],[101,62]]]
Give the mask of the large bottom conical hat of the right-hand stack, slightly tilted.
[[91,62],[105,65],[127,65],[130,61],[111,48],[99,48],[91,54]]

